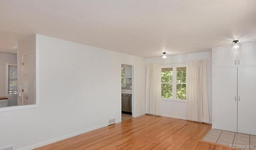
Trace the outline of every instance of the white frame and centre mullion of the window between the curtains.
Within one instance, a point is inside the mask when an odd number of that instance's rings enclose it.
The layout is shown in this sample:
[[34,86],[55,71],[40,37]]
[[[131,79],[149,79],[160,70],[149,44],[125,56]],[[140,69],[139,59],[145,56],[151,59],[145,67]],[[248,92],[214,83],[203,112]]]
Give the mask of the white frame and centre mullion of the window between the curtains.
[[[186,67],[186,63],[166,64],[161,65],[161,68],[172,68],[172,99],[161,98],[164,101],[184,101],[183,99],[176,99],[176,85],[177,85],[177,67]],[[161,82],[162,84],[162,82]],[[179,83],[182,84],[182,83]],[[186,84],[186,83],[183,83]],[[187,91],[186,91],[187,92]]]

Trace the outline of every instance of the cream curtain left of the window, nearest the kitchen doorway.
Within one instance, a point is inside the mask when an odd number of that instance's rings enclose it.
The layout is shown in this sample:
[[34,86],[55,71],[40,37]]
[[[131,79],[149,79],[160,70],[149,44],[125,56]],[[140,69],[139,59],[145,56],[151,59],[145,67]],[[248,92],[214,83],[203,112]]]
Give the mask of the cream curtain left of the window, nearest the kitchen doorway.
[[146,113],[161,115],[161,65],[147,65],[146,73]]

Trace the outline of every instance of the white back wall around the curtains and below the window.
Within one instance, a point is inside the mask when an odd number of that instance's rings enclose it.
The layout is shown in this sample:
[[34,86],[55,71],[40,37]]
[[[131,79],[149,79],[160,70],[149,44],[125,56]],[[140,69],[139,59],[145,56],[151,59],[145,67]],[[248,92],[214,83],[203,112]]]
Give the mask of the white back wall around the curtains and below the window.
[[[162,57],[146,58],[146,64],[175,64],[186,63],[191,60],[207,59],[207,84],[208,84],[208,106],[210,123],[212,123],[212,52],[190,53],[183,55],[168,55],[166,59]],[[162,115],[173,118],[186,118],[186,103],[184,101],[168,101],[162,99]]]

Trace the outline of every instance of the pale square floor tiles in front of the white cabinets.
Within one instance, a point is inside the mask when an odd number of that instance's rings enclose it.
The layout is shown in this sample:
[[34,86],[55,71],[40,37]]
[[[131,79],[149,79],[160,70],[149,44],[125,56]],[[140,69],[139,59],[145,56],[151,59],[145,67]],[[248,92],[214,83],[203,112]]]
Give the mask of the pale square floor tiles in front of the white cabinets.
[[[220,144],[224,146],[236,145],[253,145],[254,148],[250,150],[256,150],[256,136],[249,134],[242,134],[237,132],[230,132],[225,130],[210,129],[204,136],[202,141],[210,142],[214,144]],[[249,149],[245,149],[249,150]]]

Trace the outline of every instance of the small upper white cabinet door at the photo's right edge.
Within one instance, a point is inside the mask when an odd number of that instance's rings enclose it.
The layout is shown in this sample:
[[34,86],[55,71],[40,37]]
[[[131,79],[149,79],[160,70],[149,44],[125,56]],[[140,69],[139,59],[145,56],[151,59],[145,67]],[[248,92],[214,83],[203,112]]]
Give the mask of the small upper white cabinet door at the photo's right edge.
[[237,53],[238,65],[256,65],[256,44],[240,45]]

